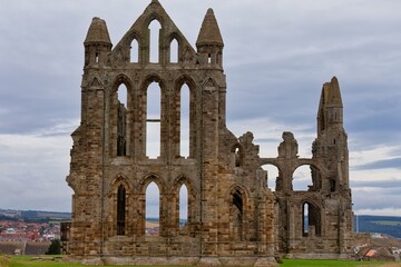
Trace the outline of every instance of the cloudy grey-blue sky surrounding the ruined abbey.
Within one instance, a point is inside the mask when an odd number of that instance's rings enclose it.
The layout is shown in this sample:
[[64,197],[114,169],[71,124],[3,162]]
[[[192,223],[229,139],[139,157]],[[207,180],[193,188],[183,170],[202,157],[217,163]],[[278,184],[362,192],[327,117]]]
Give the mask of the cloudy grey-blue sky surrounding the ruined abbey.
[[[0,208],[70,211],[92,17],[116,44],[150,0],[0,0]],[[311,156],[323,82],[336,76],[354,211],[401,216],[400,0],[160,0],[195,47],[207,8],[224,39],[227,126],[276,157],[290,130]],[[300,178],[302,180],[302,178]]]

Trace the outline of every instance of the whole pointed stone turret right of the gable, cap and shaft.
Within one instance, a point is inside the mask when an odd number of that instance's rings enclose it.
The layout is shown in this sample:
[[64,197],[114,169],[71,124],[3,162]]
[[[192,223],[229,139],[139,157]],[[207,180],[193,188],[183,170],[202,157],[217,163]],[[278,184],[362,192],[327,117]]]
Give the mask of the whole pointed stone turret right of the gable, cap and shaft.
[[196,48],[202,58],[202,63],[222,68],[223,47],[224,42],[217,20],[213,9],[208,9],[196,40]]

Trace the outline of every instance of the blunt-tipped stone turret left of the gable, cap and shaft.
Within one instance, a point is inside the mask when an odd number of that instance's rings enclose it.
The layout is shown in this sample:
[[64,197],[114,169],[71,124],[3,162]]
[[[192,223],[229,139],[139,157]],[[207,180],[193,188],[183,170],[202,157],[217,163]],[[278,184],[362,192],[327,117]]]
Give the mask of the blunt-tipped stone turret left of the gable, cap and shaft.
[[107,62],[107,55],[111,52],[111,41],[106,21],[95,17],[89,26],[85,46],[85,67],[101,66]]

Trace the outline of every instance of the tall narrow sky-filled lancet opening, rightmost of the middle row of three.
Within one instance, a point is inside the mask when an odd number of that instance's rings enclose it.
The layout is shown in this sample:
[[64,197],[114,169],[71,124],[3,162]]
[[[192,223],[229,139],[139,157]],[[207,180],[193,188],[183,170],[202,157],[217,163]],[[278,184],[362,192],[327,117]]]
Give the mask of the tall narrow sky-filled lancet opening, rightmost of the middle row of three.
[[182,157],[189,157],[189,88],[186,83],[180,89],[179,102],[179,154]]

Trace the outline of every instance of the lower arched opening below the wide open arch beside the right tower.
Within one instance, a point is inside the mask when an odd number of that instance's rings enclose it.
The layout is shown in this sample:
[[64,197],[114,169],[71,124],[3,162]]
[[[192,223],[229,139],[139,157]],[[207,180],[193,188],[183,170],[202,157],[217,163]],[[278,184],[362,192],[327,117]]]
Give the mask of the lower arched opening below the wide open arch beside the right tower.
[[311,202],[302,204],[302,236],[322,236],[320,208]]

